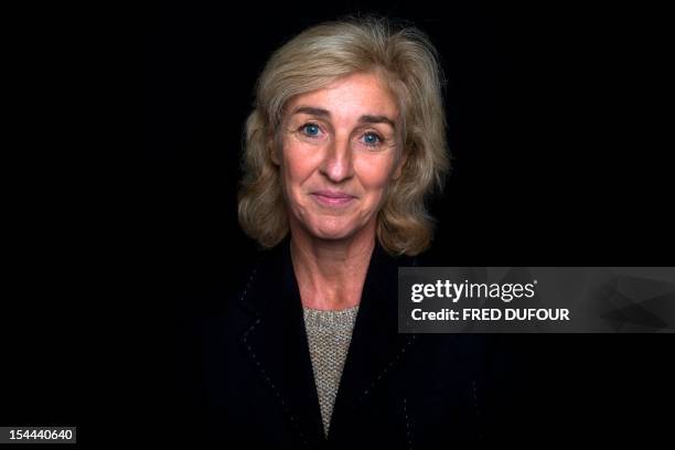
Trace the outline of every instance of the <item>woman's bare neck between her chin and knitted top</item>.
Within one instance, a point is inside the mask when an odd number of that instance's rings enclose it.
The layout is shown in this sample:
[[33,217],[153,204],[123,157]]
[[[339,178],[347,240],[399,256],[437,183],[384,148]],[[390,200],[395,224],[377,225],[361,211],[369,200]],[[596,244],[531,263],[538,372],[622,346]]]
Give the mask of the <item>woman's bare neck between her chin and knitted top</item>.
[[291,260],[302,306],[318,310],[357,306],[374,248],[374,224],[336,240],[291,227]]

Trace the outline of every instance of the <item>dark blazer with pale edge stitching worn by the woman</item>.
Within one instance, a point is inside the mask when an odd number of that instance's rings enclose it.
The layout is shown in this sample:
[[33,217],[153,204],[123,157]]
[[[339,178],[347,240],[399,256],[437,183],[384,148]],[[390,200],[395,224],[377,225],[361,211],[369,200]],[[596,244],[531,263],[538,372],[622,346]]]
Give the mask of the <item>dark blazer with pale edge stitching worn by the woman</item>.
[[195,322],[182,363],[192,371],[188,439],[237,449],[489,440],[510,398],[499,383],[508,357],[490,336],[399,334],[397,268],[409,265],[419,261],[373,251],[325,440],[289,240],[266,253],[240,289],[218,293],[221,307]]

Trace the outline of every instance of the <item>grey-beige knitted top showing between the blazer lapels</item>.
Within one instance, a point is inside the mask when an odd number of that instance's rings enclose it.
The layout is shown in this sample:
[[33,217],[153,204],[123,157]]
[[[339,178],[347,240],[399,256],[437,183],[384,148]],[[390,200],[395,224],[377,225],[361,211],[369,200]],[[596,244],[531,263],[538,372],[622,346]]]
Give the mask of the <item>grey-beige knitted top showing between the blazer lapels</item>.
[[328,437],[358,306],[343,310],[322,311],[309,308],[303,310],[323,432]]

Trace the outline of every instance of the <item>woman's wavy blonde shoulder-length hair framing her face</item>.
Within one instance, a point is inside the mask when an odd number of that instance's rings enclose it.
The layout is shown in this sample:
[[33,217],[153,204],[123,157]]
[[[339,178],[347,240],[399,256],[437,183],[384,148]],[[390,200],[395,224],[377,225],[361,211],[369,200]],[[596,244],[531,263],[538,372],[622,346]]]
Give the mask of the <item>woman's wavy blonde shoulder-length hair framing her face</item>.
[[435,188],[442,191],[450,169],[442,73],[426,34],[376,17],[307,29],[271,55],[258,78],[255,107],[246,121],[238,214],[244,232],[262,247],[276,246],[289,232],[280,172],[271,159],[286,104],[358,72],[384,76],[403,122],[399,157],[406,162],[377,214],[379,244],[393,255],[417,255],[429,247],[435,222],[425,199]]

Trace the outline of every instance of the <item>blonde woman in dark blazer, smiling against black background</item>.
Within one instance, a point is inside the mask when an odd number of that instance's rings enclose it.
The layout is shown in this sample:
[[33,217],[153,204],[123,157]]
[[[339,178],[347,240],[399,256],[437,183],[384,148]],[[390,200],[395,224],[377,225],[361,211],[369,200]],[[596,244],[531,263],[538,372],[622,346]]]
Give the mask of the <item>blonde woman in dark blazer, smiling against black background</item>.
[[432,237],[449,168],[436,52],[384,19],[323,23],[270,57],[246,124],[239,222],[260,262],[203,325],[211,440],[438,448],[483,429],[484,347],[398,334],[397,268]]

